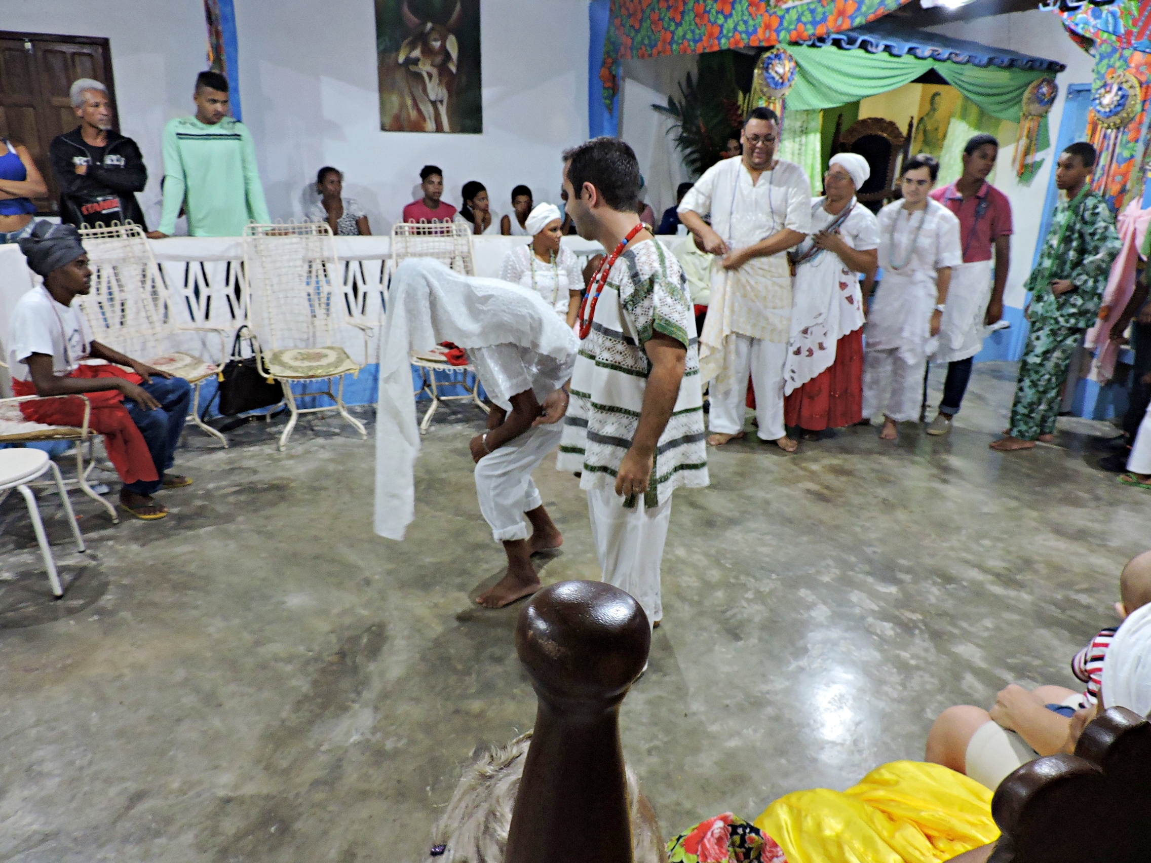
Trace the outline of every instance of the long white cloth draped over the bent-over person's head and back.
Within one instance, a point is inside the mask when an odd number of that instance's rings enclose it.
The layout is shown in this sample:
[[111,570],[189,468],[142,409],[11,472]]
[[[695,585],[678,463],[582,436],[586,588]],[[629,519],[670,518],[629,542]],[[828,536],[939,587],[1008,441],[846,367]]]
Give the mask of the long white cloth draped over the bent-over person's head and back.
[[[413,258],[391,277],[388,316],[380,337],[380,399],[376,411],[375,532],[402,540],[416,513],[413,469],[420,448],[412,396],[410,353],[453,342],[480,362],[498,362],[498,352],[477,349],[514,345],[520,368],[508,375],[509,389],[520,387],[517,372],[531,366],[532,388],[558,389],[571,376],[576,336],[539,295],[497,278],[463,276],[439,261]],[[525,364],[525,357],[527,364]],[[496,404],[514,392],[501,392],[500,375],[487,372]],[[481,380],[483,380],[481,377]],[[487,384],[485,384],[487,388]],[[503,406],[503,405],[501,405]]]

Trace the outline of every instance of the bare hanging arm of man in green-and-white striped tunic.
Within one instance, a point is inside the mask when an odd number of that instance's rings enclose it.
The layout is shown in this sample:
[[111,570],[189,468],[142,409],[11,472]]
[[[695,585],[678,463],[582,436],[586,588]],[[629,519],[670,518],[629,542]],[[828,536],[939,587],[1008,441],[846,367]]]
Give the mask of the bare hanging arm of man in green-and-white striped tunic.
[[655,334],[643,345],[651,372],[643,391],[643,407],[635,427],[632,445],[624,455],[616,475],[616,494],[637,495],[647,491],[651,481],[651,461],[660,435],[668,427],[679,398],[679,384],[687,366],[687,349],[683,342],[662,333]]

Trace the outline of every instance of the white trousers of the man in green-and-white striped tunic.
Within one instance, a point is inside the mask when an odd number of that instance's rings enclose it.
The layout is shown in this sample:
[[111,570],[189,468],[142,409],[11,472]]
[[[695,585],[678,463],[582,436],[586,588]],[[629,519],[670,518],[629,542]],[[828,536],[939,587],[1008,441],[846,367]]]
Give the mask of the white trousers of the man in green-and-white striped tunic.
[[671,498],[649,510],[640,497],[628,510],[613,488],[596,487],[587,491],[587,511],[603,581],[631,594],[643,608],[649,626],[658,623],[663,619],[660,562],[668,540]]

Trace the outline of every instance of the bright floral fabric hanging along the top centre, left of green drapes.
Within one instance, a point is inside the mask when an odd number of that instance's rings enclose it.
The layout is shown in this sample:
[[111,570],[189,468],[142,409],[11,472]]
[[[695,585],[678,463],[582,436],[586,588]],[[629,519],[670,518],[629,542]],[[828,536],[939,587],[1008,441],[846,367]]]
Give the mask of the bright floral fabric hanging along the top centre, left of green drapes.
[[611,0],[603,47],[603,99],[611,107],[620,60],[770,47],[883,17],[908,0]]

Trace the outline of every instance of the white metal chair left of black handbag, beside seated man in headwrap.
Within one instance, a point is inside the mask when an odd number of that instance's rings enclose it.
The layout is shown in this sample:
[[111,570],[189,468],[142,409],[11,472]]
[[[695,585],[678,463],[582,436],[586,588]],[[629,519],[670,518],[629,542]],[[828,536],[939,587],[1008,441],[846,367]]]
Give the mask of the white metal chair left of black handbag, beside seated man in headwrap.
[[[192,384],[191,421],[227,446],[228,438],[200,419],[199,402],[200,384],[227,361],[228,330],[178,322],[180,310],[138,224],[85,229],[81,240],[92,267],[92,291],[76,301],[96,341]],[[204,350],[174,350],[182,334],[192,333],[216,335],[218,361],[205,360]],[[195,336],[185,336],[191,338]]]

